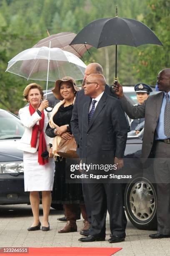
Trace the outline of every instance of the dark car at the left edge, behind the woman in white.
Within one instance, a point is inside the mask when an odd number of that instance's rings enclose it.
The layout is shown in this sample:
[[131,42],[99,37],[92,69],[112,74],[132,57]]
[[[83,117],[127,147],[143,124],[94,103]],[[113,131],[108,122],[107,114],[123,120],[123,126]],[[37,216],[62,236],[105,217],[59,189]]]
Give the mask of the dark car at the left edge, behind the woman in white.
[[[30,193],[24,192],[23,151],[17,149],[25,128],[20,118],[2,109],[0,124],[0,205],[30,204]],[[51,206],[61,210],[61,205]]]

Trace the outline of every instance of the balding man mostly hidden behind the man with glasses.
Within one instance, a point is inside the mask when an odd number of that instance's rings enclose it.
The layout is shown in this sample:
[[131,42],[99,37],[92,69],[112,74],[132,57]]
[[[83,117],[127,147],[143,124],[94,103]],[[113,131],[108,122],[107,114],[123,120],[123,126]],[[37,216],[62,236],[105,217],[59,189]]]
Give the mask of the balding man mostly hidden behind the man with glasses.
[[[89,65],[87,65],[85,69],[84,81],[87,78],[87,76],[90,74],[103,74],[102,66],[98,63],[90,63]],[[117,98],[117,95],[112,91],[112,87],[110,87],[107,84],[105,85],[105,92],[108,95]],[[82,107],[84,103],[87,102],[89,99],[90,97],[85,95],[84,90],[80,90],[79,92],[77,92],[75,102],[74,102],[74,108],[72,110],[71,128],[72,128],[72,133],[75,137],[75,141],[77,143],[77,154],[79,154]],[[82,183],[82,191],[83,191],[83,196],[85,200],[88,221],[89,223],[91,223],[91,207],[89,203],[90,199],[89,199],[87,184]],[[88,223],[86,226],[88,227]],[[86,227],[83,228],[83,230],[80,230],[80,235],[88,236],[89,230],[87,230]]]

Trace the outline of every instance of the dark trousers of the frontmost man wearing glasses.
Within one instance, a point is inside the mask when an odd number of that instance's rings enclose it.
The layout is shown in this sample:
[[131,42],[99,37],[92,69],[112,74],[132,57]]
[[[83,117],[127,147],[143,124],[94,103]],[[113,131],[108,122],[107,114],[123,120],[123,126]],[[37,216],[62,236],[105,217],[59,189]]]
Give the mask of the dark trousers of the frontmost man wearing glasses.
[[123,208],[123,184],[89,183],[92,223],[90,235],[105,237],[107,210],[110,215],[112,235],[125,238],[126,217]]

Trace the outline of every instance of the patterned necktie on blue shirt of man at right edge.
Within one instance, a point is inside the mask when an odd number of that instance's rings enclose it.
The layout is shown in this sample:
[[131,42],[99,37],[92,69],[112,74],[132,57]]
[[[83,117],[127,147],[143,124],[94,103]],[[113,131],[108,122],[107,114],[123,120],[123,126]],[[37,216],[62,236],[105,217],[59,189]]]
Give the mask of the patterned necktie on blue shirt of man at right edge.
[[170,138],[170,99],[168,93],[165,94],[166,105],[164,111],[164,133],[165,136]]

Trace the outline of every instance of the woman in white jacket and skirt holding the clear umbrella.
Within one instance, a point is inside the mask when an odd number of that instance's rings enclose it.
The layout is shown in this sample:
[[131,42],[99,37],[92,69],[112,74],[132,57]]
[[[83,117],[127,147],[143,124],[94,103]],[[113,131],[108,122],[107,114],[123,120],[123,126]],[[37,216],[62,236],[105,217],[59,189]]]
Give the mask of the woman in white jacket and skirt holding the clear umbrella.
[[[25,126],[25,132],[20,140],[18,149],[23,150],[24,186],[30,191],[30,203],[33,213],[33,223],[28,231],[39,230],[39,191],[42,191],[42,230],[50,230],[48,215],[51,205],[51,190],[54,181],[54,160],[50,149],[51,139],[46,136],[45,128],[48,124],[48,101],[43,99],[42,87],[39,84],[29,84],[25,87],[23,96],[30,102],[29,106],[19,110],[20,120]],[[49,158],[44,159],[41,154],[49,151]],[[51,158],[51,159],[50,159]]]

